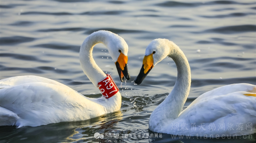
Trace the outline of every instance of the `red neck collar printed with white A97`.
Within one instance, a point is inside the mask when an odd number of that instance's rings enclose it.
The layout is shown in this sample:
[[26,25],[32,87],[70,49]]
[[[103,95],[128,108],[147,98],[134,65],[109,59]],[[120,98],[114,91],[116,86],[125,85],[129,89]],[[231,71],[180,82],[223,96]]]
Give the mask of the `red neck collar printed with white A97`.
[[107,74],[106,78],[98,82],[98,88],[106,99],[112,97],[119,91],[110,74]]

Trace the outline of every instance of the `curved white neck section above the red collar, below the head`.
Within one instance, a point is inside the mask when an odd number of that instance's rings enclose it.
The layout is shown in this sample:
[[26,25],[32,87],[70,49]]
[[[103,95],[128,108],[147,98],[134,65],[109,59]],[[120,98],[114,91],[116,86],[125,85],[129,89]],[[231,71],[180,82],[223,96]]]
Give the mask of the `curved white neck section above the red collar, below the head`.
[[102,43],[107,47],[107,41],[107,34],[104,32],[94,32],[84,40],[80,48],[79,59],[81,67],[95,87],[97,87],[99,81],[107,76],[94,61],[92,50],[98,43]]

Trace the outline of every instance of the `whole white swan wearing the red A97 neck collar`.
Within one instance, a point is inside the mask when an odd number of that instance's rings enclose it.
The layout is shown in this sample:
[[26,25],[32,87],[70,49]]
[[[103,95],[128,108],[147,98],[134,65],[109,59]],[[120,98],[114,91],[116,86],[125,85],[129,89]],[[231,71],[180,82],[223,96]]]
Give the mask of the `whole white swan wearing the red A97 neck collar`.
[[[103,43],[116,63],[120,79],[129,80],[128,46],[124,39],[109,31],[89,35],[80,48],[81,67],[94,86],[106,74],[92,57],[97,43]],[[16,76],[0,80],[0,125],[39,126],[61,121],[87,120],[118,111],[121,94],[93,99],[57,81],[39,76]]]

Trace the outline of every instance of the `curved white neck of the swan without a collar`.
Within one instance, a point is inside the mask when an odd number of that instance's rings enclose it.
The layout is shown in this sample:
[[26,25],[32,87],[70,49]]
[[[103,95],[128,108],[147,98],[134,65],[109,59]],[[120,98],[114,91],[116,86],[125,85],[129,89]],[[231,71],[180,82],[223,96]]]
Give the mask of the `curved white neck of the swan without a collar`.
[[185,54],[179,47],[173,49],[168,55],[177,66],[177,80],[172,92],[157,106],[150,116],[150,127],[154,129],[158,124],[164,124],[178,117],[189,95],[191,84],[190,66]]

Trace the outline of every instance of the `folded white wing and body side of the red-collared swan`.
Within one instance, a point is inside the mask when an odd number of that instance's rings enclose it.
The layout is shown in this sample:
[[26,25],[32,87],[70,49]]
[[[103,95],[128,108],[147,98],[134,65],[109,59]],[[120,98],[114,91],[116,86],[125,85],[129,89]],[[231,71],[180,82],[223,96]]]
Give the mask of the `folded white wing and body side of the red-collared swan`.
[[19,84],[0,89],[0,106],[6,109],[0,110],[0,115],[5,115],[0,119],[8,119],[9,114],[19,127],[87,120],[105,114],[105,108],[94,100],[71,88],[45,82]]

